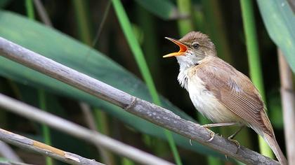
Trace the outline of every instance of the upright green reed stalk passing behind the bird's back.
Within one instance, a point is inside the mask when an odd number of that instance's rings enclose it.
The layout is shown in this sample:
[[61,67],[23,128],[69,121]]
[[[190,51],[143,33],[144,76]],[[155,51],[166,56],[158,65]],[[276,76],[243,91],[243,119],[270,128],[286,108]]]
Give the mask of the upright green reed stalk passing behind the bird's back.
[[[252,1],[240,0],[242,8],[242,19],[244,24],[244,34],[246,36],[247,54],[250,69],[250,77],[254,85],[259,90],[265,102],[265,92],[263,87],[262,68],[259,58],[259,50],[256,36],[256,26]],[[273,158],[273,152],[261,136],[258,136],[259,148],[263,155]]]

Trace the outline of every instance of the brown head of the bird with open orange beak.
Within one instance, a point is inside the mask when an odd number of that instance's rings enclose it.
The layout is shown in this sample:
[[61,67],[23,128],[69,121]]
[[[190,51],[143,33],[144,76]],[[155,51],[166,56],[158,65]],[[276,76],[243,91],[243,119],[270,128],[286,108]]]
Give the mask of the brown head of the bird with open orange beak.
[[172,52],[163,57],[176,57],[180,65],[194,66],[199,64],[202,59],[209,56],[216,56],[214,43],[206,34],[199,31],[191,31],[180,40],[168,38],[173,43],[179,46],[178,52]]

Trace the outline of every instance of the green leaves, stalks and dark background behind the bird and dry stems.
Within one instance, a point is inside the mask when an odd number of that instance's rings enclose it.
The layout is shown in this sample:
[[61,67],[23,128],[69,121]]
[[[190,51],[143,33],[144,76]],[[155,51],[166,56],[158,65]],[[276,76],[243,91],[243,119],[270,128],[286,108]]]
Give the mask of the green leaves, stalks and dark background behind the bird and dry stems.
[[[277,141],[285,149],[277,45],[294,69],[295,35],[291,27],[295,28],[295,22],[287,1],[271,1],[271,6],[250,0],[41,1],[51,24],[44,24],[33,1],[0,2],[1,37],[202,123],[209,121],[197,113],[188,93],[178,85],[176,59],[162,56],[178,49],[165,36],[181,38],[192,30],[208,34],[216,44],[218,56],[253,78],[264,93]],[[282,10],[274,6],[282,6]],[[269,13],[277,13],[280,22],[275,22]],[[286,15],[293,17],[286,20]],[[197,143],[190,145],[189,139],[4,57],[0,57],[0,92],[88,127],[81,110],[81,104],[86,103],[98,131],[177,164],[238,163]],[[0,113],[1,128],[104,162],[98,150],[85,141],[4,110]],[[234,129],[215,131],[228,136]],[[251,129],[244,129],[237,140],[252,150],[263,149],[263,145],[259,149]],[[15,150],[27,163],[62,164]],[[268,148],[264,150],[271,157]],[[107,155],[112,164],[135,164],[110,152]]]

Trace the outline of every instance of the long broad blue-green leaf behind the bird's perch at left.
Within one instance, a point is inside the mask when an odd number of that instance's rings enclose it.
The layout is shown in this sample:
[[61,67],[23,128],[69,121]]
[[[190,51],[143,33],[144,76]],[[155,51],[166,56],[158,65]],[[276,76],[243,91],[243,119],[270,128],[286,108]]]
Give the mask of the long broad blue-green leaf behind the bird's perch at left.
[[[113,62],[110,58],[105,57],[100,52],[54,29],[45,27],[42,24],[28,20],[15,13],[1,11],[0,36],[18,43],[29,50],[33,50],[40,55],[53,59],[55,62],[60,62],[81,73],[86,73],[93,78],[101,80],[113,87],[117,87],[129,94],[151,101],[147,87],[141,80],[129,73],[129,71],[126,71],[122,66]],[[117,106],[97,99],[79,89],[75,89],[70,85],[66,85],[63,82],[59,82],[32,69],[28,69],[4,57],[0,57],[0,75],[32,87],[44,88],[48,92],[85,101],[91,106],[96,106],[101,110],[105,110],[106,113],[117,117],[119,120],[122,120],[122,122],[129,124],[129,126],[144,134],[164,138],[161,127],[147,122],[140,117],[126,113]],[[173,106],[166,99],[162,98],[161,101],[163,103],[162,105],[172,110],[173,113],[187,120],[192,120],[191,117],[176,108],[176,106]],[[188,138],[184,138],[178,134],[173,134],[173,136],[176,143],[184,148],[223,157],[198,143],[190,145]]]

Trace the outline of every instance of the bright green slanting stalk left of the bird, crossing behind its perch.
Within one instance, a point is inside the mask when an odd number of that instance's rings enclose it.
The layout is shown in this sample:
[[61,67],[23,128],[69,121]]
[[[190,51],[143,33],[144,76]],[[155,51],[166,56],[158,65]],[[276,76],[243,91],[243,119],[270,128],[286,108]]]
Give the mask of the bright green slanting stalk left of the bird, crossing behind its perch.
[[[152,101],[158,106],[161,106],[161,101],[159,99],[159,95],[157,94],[157,89],[155,87],[155,84],[152,80],[150,70],[147,67],[147,63],[145,62],[143,51],[140,49],[140,45],[133,34],[131,23],[129,21],[129,18],[127,17],[126,11],[124,10],[124,7],[122,6],[121,1],[112,0],[112,4],[114,6],[115,13],[117,14],[119,23],[121,24],[121,27],[123,29],[126,40],[129,43],[131,51],[133,52],[133,56],[136,59],[136,63],[138,64],[140,73],[142,74],[143,79],[145,80],[145,83],[147,85],[147,88],[149,89],[150,95],[152,96]],[[181,157],[178,154],[178,150],[176,148],[176,144],[173,140],[173,136],[171,132],[164,129],[164,133],[169,142],[170,148],[173,152],[173,157],[176,161],[176,164],[181,165],[182,164]]]

